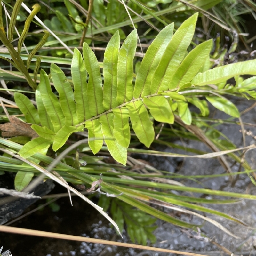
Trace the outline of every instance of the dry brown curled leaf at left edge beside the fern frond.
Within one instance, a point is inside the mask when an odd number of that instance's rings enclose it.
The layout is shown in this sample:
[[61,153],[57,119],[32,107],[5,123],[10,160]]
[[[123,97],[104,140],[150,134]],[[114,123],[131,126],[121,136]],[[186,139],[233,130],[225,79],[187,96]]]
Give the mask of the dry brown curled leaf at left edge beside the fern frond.
[[28,136],[32,139],[39,137],[31,125],[15,116],[10,116],[10,123],[0,124],[0,129],[3,137]]

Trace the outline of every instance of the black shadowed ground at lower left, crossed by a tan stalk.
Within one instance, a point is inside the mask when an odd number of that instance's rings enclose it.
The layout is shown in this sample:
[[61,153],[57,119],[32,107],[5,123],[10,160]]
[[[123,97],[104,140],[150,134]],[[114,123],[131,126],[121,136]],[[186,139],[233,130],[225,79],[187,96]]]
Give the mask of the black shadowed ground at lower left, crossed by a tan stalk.
[[[65,189],[56,185],[52,193],[65,193]],[[26,212],[35,209],[39,204],[44,204],[45,200],[40,200],[30,206]],[[72,197],[73,206],[69,198],[64,197],[56,201],[60,205],[58,212],[52,212],[49,206],[40,211],[36,211],[27,217],[12,224],[14,227],[29,228],[48,232],[56,232],[75,236],[86,236],[91,232],[92,223],[100,220],[108,222],[89,204],[79,197]],[[4,246],[3,251],[10,249],[14,256],[52,256],[71,255],[70,251],[75,251],[80,246],[80,242],[57,240],[51,238],[21,236],[9,233],[0,233],[0,247]],[[66,252],[66,253],[65,253]],[[81,255],[79,252],[76,255]]]

